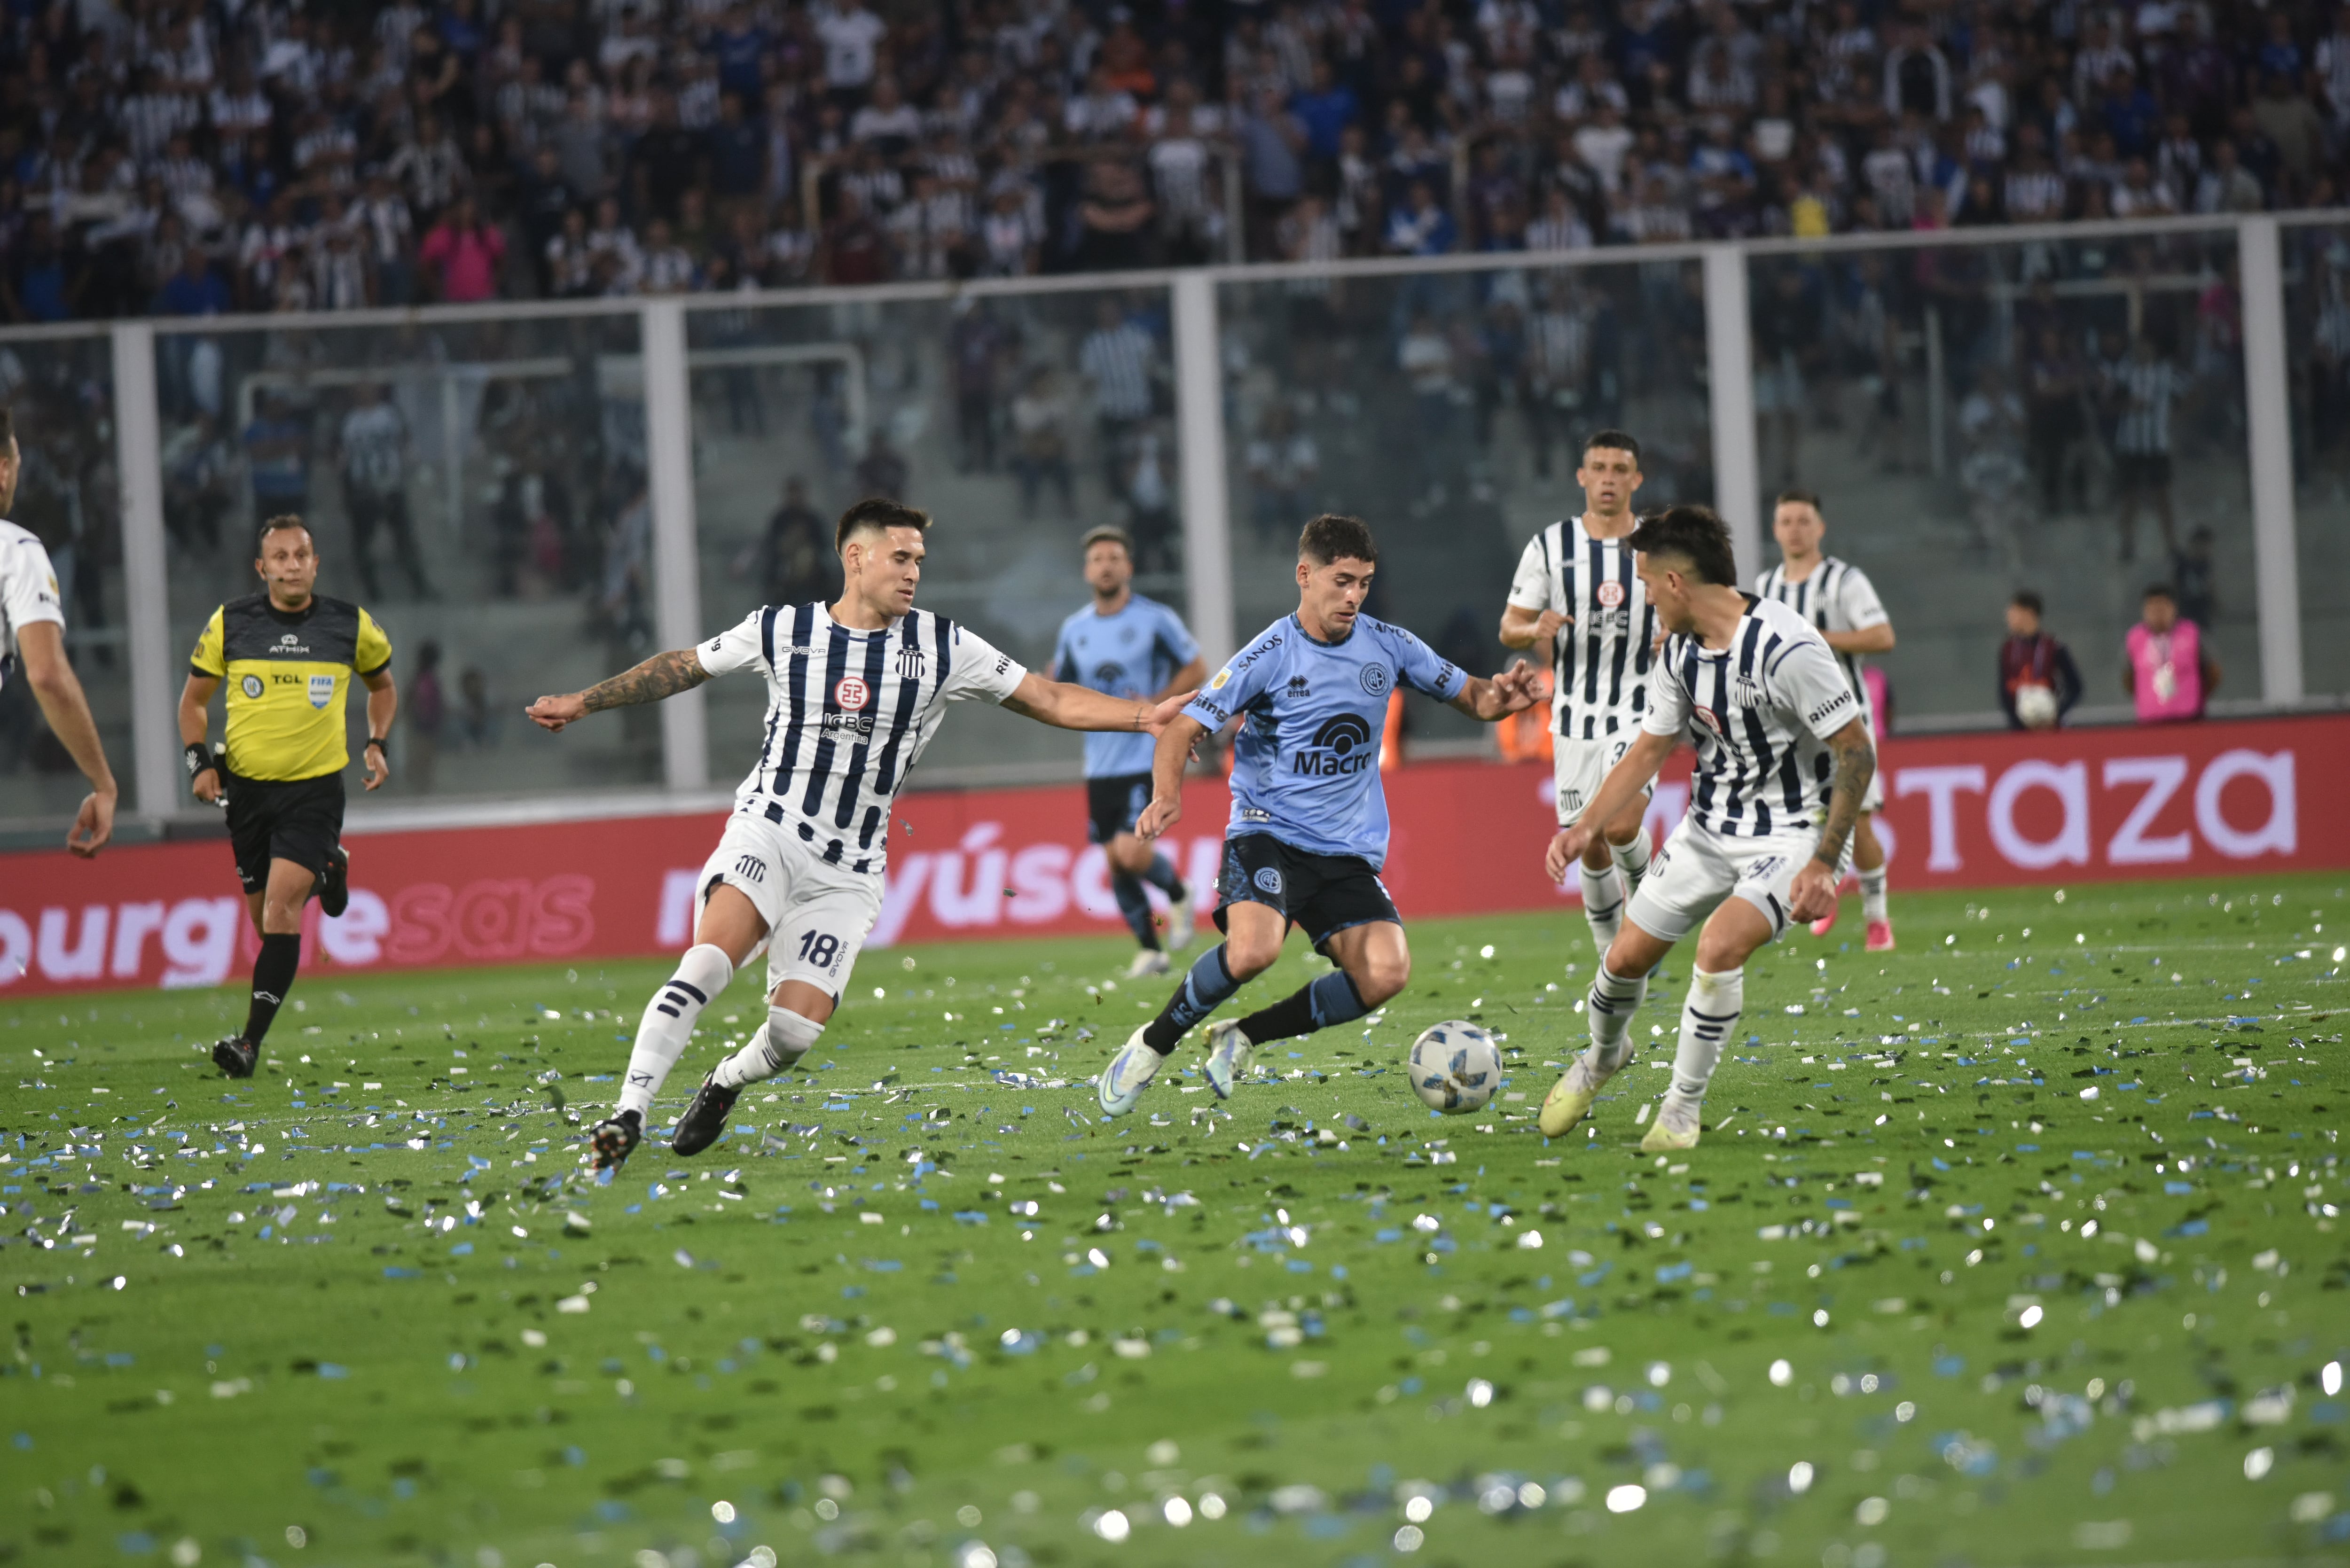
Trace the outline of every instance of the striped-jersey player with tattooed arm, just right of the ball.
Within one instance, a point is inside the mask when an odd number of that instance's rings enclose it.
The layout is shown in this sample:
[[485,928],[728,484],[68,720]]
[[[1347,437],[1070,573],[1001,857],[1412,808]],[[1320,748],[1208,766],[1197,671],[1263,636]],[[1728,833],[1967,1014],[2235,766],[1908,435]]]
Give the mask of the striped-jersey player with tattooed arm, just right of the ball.
[[1683,738],[1697,748],[1697,773],[1690,813],[1657,851],[1591,983],[1591,1048],[1542,1103],[1542,1133],[1558,1138],[1582,1121],[1631,1060],[1636,976],[1704,922],[1673,1086],[1640,1140],[1643,1152],[1661,1154],[1697,1147],[1706,1081],[1746,1006],[1746,957],[1788,922],[1835,903],[1878,752],[1852,682],[1812,623],[1777,599],[1739,592],[1720,517],[1701,505],[1668,508],[1633,529],[1631,548],[1671,635],[1640,733],[1598,799],[1551,844],[1551,877],[1638,799]]

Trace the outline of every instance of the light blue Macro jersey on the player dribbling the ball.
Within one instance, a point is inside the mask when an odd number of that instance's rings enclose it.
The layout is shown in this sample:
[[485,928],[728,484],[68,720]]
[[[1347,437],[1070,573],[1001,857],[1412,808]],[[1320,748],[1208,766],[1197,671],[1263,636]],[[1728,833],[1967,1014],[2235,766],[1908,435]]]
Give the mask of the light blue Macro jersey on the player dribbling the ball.
[[1379,733],[1398,682],[1450,703],[1469,677],[1370,616],[1356,616],[1344,642],[1316,642],[1283,616],[1234,654],[1184,708],[1208,729],[1246,715],[1224,835],[1269,832],[1292,849],[1384,865]]

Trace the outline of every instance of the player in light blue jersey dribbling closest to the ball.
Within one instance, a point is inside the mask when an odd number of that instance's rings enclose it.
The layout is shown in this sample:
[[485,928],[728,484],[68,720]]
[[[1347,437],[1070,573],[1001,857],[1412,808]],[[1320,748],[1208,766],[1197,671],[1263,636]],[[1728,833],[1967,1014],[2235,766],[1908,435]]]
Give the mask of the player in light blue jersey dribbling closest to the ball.
[[1182,816],[1191,745],[1241,719],[1215,910],[1224,943],[1102,1070],[1095,1088],[1112,1117],[1135,1107],[1191,1025],[1274,966],[1292,922],[1337,971],[1208,1030],[1206,1074],[1217,1098],[1231,1095],[1257,1046],[1361,1018],[1412,978],[1403,917],[1379,882],[1386,701],[1398,684],[1412,686],[1490,724],[1535,705],[1535,672],[1518,661],[1492,679],[1464,675],[1401,625],[1361,614],[1377,562],[1358,517],[1309,522],[1297,538],[1297,614],[1234,654],[1156,745],[1154,795],[1137,823],[1144,839]]

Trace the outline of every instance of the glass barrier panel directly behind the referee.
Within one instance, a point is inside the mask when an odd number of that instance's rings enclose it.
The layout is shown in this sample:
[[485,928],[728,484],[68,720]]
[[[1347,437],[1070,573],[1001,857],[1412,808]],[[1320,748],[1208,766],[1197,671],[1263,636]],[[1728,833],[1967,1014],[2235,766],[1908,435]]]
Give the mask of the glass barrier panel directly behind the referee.
[[[317,592],[392,642],[392,780],[367,799],[660,783],[653,708],[562,736],[522,717],[656,651],[632,313],[169,331],[155,371],[174,679],[212,611],[261,590],[258,524],[298,512]],[[345,710],[352,802],[364,696]]]

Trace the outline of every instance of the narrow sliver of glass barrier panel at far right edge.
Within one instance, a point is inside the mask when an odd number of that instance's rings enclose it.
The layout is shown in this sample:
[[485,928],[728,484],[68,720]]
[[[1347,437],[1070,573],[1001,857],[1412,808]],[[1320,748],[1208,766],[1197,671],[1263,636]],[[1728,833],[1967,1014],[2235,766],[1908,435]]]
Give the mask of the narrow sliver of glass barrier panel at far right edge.
[[2350,226],[2284,228],[2301,684],[2350,693]]

